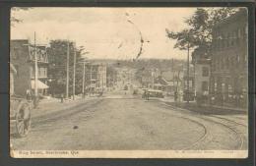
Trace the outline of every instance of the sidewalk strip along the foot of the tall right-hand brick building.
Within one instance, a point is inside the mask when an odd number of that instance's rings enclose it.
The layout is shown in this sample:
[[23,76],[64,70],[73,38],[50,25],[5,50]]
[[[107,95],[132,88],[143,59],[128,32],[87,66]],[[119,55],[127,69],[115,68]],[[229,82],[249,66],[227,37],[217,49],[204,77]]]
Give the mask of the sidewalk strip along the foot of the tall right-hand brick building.
[[209,105],[209,104],[202,104],[197,105],[196,102],[171,102],[167,101],[164,102],[168,105],[179,107],[183,109],[187,109],[193,112],[201,113],[201,114],[218,114],[218,115],[225,115],[225,114],[247,114],[247,110],[244,108],[233,108],[233,107],[224,107],[218,105]]

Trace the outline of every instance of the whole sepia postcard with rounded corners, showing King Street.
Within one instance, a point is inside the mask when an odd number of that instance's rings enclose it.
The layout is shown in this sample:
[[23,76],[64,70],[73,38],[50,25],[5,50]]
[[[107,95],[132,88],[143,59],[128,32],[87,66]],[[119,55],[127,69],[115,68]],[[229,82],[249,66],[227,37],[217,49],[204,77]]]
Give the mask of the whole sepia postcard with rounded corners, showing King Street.
[[13,7],[14,158],[248,157],[242,7]]

